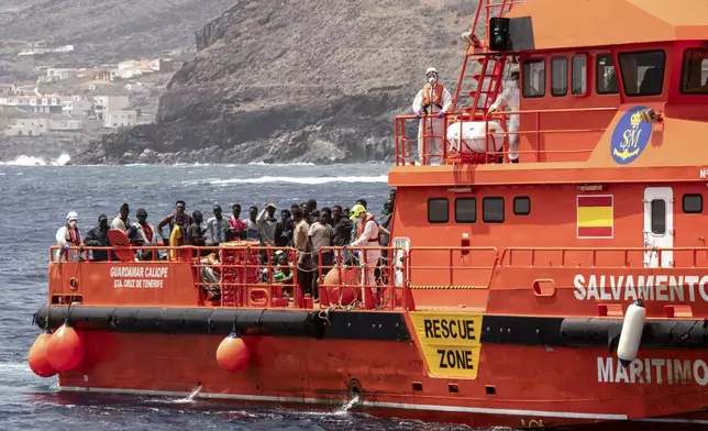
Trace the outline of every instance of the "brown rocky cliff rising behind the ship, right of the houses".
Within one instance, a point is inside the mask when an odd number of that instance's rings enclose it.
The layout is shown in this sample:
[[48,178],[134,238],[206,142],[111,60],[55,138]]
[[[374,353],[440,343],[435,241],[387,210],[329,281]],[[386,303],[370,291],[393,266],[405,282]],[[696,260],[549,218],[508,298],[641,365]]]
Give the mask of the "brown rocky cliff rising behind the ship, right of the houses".
[[363,162],[394,153],[424,70],[453,91],[472,0],[240,0],[196,33],[199,52],[156,124],[107,135],[77,163]]

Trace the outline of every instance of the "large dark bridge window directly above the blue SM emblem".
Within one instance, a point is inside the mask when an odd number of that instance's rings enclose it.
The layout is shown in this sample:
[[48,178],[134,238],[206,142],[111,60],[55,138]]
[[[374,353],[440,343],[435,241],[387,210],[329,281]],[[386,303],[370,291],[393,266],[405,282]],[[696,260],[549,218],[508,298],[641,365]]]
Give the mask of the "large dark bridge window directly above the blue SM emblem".
[[627,96],[657,96],[664,87],[663,51],[622,53],[619,55],[622,84]]

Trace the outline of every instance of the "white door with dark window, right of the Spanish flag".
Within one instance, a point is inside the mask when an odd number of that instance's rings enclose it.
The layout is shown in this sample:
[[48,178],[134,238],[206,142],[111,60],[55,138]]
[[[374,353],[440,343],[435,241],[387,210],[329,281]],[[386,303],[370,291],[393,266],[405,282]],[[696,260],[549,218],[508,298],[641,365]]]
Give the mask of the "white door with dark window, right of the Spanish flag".
[[[674,253],[659,248],[674,247],[674,190],[671,187],[644,189],[644,266],[673,267]],[[661,262],[660,262],[661,261]]]

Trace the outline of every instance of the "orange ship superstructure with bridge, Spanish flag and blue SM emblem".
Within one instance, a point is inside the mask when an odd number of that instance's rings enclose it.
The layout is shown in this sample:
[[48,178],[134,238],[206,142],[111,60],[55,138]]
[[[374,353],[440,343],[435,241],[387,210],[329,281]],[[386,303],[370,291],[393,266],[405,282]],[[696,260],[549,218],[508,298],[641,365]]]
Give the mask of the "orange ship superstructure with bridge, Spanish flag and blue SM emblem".
[[[418,123],[435,118],[397,117],[389,174],[400,245],[469,244],[469,255],[456,252],[455,262],[477,272],[413,269],[411,283],[532,285],[543,296],[561,279],[573,286],[551,267],[706,266],[708,1],[480,3],[491,19],[478,14],[473,29],[479,20],[490,38],[468,37],[454,111],[444,128],[423,133]],[[502,3],[499,16],[494,5]],[[519,104],[489,114],[508,66],[520,73]],[[509,115],[519,115],[519,163],[508,158]],[[413,251],[410,265],[446,258]],[[500,269],[485,272],[495,259]],[[534,266],[545,269],[505,272]],[[416,301],[450,298],[420,291]]]

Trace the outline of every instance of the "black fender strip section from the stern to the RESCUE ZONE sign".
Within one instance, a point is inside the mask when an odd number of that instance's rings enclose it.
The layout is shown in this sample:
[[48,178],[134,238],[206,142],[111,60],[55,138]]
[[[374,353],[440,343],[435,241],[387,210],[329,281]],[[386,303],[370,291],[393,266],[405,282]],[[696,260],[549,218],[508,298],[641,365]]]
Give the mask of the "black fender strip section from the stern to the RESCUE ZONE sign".
[[[68,316],[67,316],[68,312]],[[401,313],[223,308],[47,306],[34,323],[58,328],[65,321],[82,331],[166,334],[240,333],[335,340],[410,341]]]

